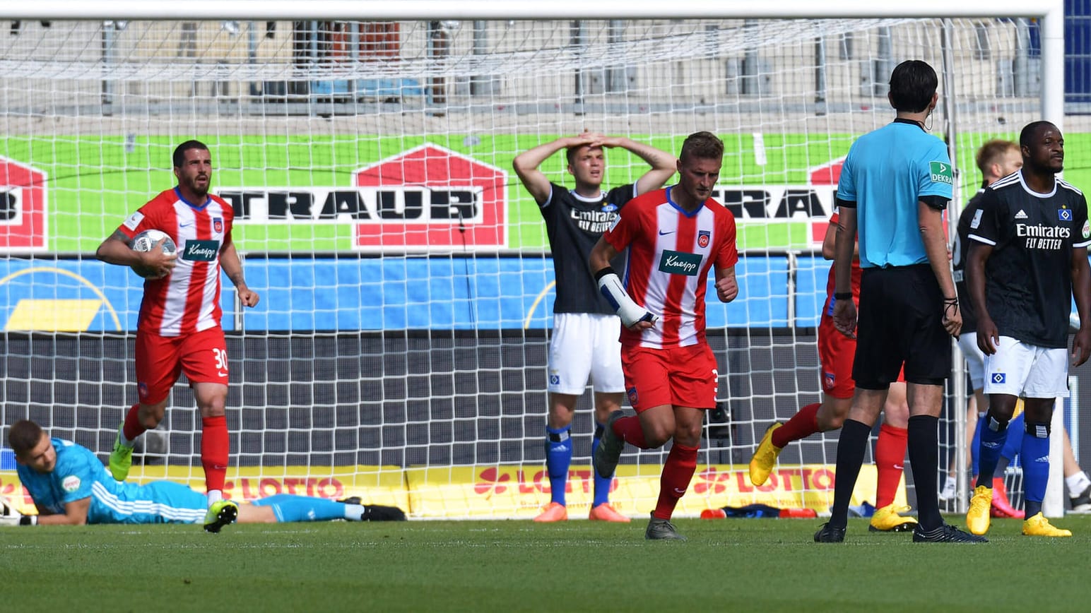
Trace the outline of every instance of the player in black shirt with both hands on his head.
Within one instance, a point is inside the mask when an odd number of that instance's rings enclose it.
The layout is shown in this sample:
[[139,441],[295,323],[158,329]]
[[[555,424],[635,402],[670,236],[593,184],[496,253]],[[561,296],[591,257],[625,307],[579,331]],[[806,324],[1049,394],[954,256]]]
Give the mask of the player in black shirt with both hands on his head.
[[[604,149],[624,148],[650,168],[634,183],[602,189],[607,160]],[[575,179],[568,190],[539,170],[556,152],[565,149],[567,169]],[[549,418],[546,423],[546,468],[550,480],[550,503],[535,521],[568,518],[565,491],[572,464],[572,420],[576,402],[590,380],[594,386],[595,434],[591,454],[602,438],[610,414],[621,410],[624,378],[621,371],[621,326],[615,309],[599,292],[587,269],[591,248],[633,197],[659,189],[674,175],[673,155],[631,139],[584,132],[541,144],[516,156],[514,168],[533,196],[546,220],[556,300],[549,348]],[[613,476],[595,476],[594,500],[588,518],[628,521],[610,505]]]

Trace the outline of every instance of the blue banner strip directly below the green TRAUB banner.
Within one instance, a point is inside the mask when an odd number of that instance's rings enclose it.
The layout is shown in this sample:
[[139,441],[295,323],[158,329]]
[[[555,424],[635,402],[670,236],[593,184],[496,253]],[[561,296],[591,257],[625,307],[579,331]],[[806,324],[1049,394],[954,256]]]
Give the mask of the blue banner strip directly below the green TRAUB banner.
[[[242,312],[240,326],[225,281],[226,330],[544,329],[552,322],[547,257],[249,257],[244,268],[262,301]],[[743,256],[740,298],[709,300],[708,326],[815,327],[828,271],[829,262],[812,255]],[[141,291],[142,280],[128,268],[96,260],[0,260],[5,329],[22,300],[99,300],[101,310],[82,329],[134,330]]]

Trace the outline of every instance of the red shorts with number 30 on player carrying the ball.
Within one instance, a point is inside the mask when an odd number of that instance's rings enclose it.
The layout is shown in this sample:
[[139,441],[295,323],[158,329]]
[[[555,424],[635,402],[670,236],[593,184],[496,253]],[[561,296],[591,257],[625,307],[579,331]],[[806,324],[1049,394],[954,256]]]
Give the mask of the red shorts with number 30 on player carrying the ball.
[[183,372],[190,385],[227,385],[227,341],[223,328],[216,326],[180,336],[136,332],[136,389],[141,402],[155,405],[164,400]]

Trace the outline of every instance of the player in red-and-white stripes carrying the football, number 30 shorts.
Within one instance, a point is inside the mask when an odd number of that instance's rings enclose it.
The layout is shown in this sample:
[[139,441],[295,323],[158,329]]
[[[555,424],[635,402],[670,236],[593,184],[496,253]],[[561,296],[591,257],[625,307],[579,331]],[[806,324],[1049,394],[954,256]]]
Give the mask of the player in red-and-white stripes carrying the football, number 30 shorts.
[[[208,493],[205,529],[215,532],[238,513],[235,503],[223,496],[229,447],[224,416],[228,362],[219,323],[220,268],[235,284],[242,304],[254,306],[259,297],[247,287],[242,263],[231,242],[235,213],[229,204],[208,193],[208,147],[187,141],[175,149],[173,165],[178,185],[130,215],[96,253],[104,262],[152,272],[144,281],[136,328],[140,400],[118,429],[110,473],[118,481],[125,480],[134,441],[163,420],[170,388],[184,372],[201,411],[201,465]],[[166,232],[178,245],[178,255],[161,253],[158,243],[146,253],[130,249],[133,237],[148,229]]]

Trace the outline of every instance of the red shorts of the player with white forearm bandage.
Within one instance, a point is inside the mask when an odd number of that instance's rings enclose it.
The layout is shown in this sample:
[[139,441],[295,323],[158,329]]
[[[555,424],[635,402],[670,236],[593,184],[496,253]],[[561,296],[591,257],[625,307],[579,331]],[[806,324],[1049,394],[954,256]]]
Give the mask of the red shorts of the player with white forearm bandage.
[[638,413],[660,405],[716,408],[720,375],[707,342],[669,349],[623,346],[621,368],[628,401]]

